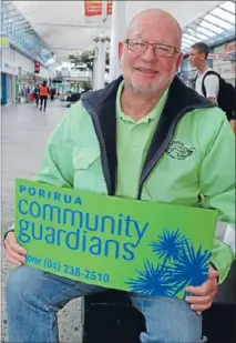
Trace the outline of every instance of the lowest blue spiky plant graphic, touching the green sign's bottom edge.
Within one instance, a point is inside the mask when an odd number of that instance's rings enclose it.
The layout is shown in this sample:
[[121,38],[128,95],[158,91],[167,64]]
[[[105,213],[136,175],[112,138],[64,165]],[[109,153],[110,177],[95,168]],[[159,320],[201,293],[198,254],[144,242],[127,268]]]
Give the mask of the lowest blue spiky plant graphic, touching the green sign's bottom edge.
[[163,269],[163,265],[154,266],[152,262],[146,261],[144,270],[136,270],[137,279],[130,279],[126,281],[132,292],[141,292],[154,296],[173,296],[175,294],[175,287],[170,283],[168,276],[171,276],[167,266]]

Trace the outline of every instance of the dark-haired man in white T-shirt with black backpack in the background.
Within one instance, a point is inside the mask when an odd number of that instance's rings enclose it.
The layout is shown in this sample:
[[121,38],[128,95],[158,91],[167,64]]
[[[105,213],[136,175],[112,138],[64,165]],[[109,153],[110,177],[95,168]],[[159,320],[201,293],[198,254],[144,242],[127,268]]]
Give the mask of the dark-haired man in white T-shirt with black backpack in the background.
[[[207,71],[212,70],[207,64],[207,56],[209,53],[209,48],[205,43],[195,43],[192,46],[189,52],[189,62],[192,67],[195,67],[198,70],[195,90],[201,94],[203,93],[203,79]],[[217,75],[206,75],[204,80],[204,85],[206,90],[206,98],[212,101],[213,103],[217,104],[217,97],[219,91],[219,80]]]

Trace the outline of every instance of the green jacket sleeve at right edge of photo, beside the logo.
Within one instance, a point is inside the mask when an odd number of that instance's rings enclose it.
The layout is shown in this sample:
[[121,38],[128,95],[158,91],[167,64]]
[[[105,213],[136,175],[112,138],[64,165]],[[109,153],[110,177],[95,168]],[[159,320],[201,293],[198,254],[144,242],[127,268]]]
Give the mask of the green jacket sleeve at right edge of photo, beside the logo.
[[[216,120],[217,121],[217,120]],[[226,223],[227,234],[215,239],[212,263],[219,271],[222,283],[235,259],[235,135],[224,117],[208,144],[199,171],[202,206],[218,211],[218,221]]]

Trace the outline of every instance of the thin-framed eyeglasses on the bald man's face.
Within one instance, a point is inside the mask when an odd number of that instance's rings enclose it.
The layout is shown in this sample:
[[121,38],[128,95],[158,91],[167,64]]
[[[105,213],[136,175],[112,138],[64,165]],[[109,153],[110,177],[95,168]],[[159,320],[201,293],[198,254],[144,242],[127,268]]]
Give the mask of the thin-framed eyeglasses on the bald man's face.
[[141,39],[125,39],[124,42],[127,44],[129,50],[135,51],[137,53],[146,52],[150,46],[154,47],[155,54],[161,57],[172,58],[174,53],[179,52],[174,47],[160,43],[148,43]]

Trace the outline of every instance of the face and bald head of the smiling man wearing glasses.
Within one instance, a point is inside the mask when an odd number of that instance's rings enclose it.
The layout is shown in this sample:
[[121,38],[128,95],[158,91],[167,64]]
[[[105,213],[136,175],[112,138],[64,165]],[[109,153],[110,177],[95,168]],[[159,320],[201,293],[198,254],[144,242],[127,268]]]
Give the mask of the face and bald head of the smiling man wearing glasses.
[[[136,19],[127,36],[131,41],[129,43],[120,42],[119,57],[124,81],[134,91],[157,93],[165,90],[172,82],[183,60],[183,54],[177,52],[179,34],[176,33],[176,24],[170,18],[163,19],[161,16],[156,18],[156,14],[147,13]],[[146,42],[162,44],[160,49],[156,49],[158,54],[156,54],[155,48]],[[133,43],[135,46],[132,46]],[[138,44],[141,44],[141,49],[137,48]],[[173,51],[173,54],[160,56],[163,52],[166,54],[166,49]],[[143,51],[141,52],[141,50]]]

